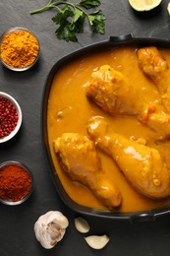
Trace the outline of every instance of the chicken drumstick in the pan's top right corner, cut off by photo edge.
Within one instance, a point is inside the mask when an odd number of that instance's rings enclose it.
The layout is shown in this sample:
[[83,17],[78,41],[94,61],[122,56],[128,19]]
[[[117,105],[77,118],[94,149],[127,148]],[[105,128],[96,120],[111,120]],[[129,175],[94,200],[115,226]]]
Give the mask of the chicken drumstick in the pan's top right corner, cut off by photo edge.
[[142,47],[137,53],[142,72],[155,84],[165,108],[170,112],[170,70],[168,63],[154,46]]

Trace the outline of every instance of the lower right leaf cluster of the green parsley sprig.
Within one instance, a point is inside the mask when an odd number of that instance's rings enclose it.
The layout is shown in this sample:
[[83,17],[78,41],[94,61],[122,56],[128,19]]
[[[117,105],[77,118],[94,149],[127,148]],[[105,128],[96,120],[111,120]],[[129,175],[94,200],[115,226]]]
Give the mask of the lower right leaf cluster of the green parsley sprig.
[[88,15],[88,21],[93,32],[103,34],[105,32],[104,21],[105,16],[102,11],[96,11]]

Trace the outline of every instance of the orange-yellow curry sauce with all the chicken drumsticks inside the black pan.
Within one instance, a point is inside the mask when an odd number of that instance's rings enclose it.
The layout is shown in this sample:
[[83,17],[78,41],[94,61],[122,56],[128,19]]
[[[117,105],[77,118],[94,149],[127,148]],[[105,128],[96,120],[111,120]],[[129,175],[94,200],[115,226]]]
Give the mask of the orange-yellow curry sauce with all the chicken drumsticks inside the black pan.
[[64,65],[51,85],[47,132],[56,173],[79,205],[169,205],[170,50],[120,46]]

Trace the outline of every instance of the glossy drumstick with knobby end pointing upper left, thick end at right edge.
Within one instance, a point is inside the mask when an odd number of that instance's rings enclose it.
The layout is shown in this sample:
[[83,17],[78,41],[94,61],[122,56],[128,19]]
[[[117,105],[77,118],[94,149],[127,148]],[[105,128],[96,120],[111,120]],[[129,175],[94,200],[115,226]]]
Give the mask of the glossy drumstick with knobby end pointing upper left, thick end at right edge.
[[108,134],[107,123],[101,118],[89,122],[87,131],[95,145],[117,162],[139,192],[155,199],[170,195],[170,170],[157,150],[120,134]]

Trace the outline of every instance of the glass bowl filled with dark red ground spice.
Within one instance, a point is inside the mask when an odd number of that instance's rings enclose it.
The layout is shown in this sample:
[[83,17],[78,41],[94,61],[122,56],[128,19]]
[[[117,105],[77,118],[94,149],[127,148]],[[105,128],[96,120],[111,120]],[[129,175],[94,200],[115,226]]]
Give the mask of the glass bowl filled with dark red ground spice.
[[28,168],[18,161],[0,164],[0,201],[6,205],[25,202],[32,192],[32,176]]

